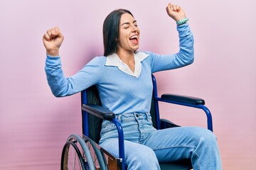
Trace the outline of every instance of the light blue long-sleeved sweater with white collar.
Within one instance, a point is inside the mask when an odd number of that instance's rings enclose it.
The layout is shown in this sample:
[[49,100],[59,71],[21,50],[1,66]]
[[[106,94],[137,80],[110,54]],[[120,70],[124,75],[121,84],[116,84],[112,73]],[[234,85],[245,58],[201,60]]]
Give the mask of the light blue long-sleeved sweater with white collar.
[[96,84],[102,106],[110,111],[116,114],[149,113],[153,88],[151,74],[184,67],[193,62],[193,34],[188,23],[177,26],[177,30],[179,52],[171,55],[136,52],[135,72],[125,71],[124,63],[113,54],[109,56],[110,59],[95,57],[78,73],[65,78],[60,57],[47,56],[46,75],[50,89],[55,96],[62,97],[76,94]]

